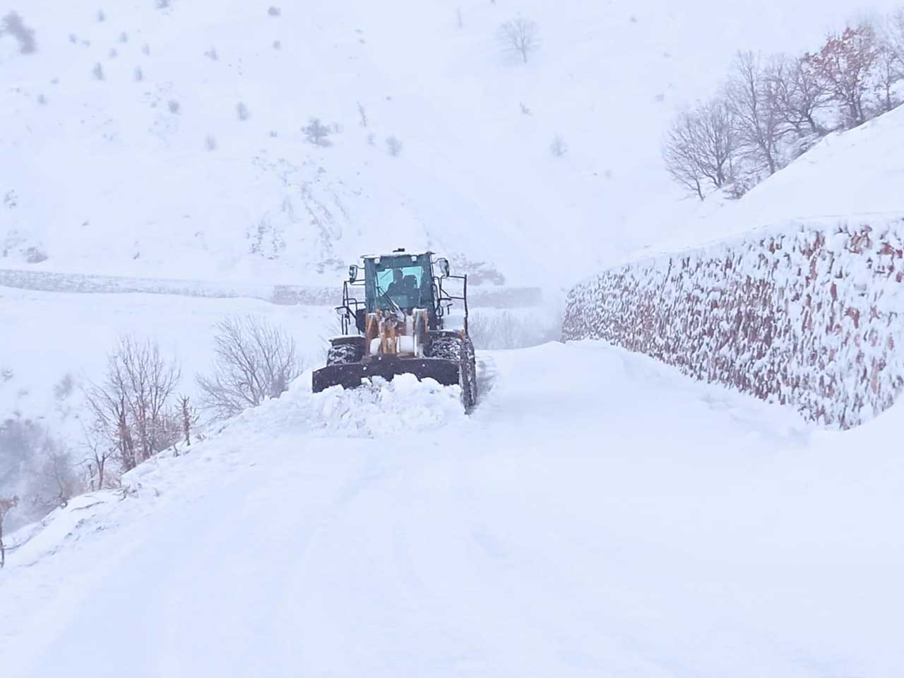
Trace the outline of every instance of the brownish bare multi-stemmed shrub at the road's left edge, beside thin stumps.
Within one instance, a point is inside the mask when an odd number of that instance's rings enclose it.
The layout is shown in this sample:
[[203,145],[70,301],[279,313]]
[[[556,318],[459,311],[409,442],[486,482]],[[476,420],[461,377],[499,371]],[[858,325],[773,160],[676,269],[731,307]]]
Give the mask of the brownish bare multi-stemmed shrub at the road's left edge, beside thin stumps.
[[107,372],[87,392],[94,431],[114,447],[123,472],[179,439],[173,399],[179,382],[176,363],[155,342],[123,337],[107,356]]

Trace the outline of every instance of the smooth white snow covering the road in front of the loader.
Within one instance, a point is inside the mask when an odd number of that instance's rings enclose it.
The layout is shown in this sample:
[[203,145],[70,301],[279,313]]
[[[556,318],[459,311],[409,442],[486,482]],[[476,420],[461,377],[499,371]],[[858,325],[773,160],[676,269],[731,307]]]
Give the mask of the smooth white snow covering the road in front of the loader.
[[601,344],[481,363],[471,417],[301,381],[59,512],[0,574],[4,675],[899,674],[899,408],[828,433]]

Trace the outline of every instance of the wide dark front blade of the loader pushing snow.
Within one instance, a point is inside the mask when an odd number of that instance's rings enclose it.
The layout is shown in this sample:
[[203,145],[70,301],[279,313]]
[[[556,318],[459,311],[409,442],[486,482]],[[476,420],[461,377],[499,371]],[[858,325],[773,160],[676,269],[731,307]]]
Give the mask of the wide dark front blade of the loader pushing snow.
[[454,361],[382,355],[363,363],[327,365],[314,372],[312,386],[315,393],[331,386],[354,389],[361,386],[362,379],[382,377],[390,381],[397,374],[414,374],[419,380],[433,379],[444,386],[457,384],[460,378],[458,363]]

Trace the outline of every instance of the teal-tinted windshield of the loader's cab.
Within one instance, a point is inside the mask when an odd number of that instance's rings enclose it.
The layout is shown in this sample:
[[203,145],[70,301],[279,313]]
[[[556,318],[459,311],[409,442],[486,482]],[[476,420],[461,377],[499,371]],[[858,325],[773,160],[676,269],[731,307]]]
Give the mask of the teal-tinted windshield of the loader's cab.
[[429,308],[433,292],[428,255],[366,259],[368,310]]

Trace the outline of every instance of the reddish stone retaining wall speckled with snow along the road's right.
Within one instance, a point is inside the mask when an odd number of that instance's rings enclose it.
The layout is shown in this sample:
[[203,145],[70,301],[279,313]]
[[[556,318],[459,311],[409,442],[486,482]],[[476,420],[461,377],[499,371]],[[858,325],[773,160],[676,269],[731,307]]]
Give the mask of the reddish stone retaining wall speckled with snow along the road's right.
[[613,268],[563,338],[603,339],[850,428],[904,384],[904,219],[795,224]]

